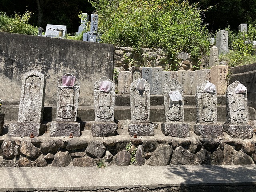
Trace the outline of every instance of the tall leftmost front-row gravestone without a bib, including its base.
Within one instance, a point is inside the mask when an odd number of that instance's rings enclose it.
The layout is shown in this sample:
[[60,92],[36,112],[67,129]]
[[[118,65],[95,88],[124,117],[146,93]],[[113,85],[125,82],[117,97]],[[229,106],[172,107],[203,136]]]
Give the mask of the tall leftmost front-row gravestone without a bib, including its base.
[[46,130],[41,124],[44,109],[44,74],[32,70],[23,75],[17,123],[9,124],[8,136],[39,136]]

